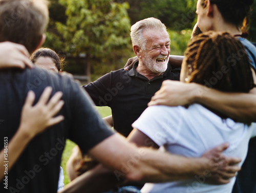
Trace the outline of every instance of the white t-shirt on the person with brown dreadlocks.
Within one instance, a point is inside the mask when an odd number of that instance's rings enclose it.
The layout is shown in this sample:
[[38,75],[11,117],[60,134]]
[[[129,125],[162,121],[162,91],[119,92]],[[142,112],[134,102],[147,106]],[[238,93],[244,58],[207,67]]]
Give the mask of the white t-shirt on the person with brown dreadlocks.
[[[222,119],[200,104],[183,106],[150,106],[133,123],[156,144],[173,154],[186,157],[201,157],[210,148],[229,142],[225,156],[240,157],[242,165],[248,149],[249,139],[256,136],[256,123],[247,126],[231,119]],[[235,178],[224,185],[209,185],[205,176],[170,183],[146,183],[141,192],[231,192]]]

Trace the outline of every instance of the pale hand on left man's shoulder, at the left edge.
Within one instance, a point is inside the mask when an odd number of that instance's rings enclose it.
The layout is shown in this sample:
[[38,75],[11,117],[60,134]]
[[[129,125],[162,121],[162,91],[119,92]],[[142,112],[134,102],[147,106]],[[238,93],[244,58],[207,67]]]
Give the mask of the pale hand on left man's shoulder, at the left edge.
[[33,68],[29,52],[23,45],[5,41],[0,43],[0,68]]

